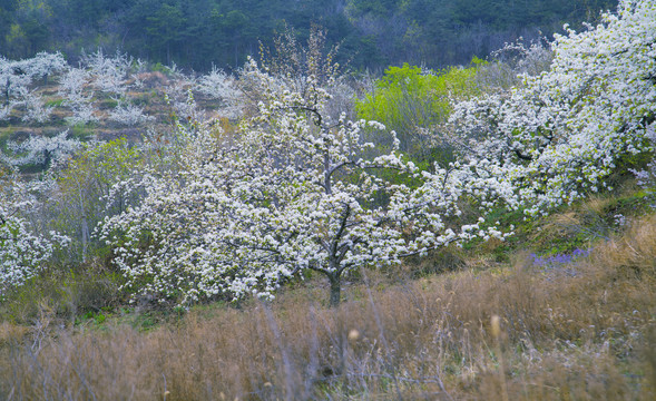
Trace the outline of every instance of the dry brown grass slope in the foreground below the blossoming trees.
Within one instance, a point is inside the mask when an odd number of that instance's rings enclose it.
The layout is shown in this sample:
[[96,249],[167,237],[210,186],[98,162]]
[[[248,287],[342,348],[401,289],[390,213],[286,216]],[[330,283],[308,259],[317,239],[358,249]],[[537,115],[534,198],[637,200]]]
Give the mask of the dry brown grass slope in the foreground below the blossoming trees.
[[[574,270],[574,274],[571,274]],[[315,288],[138,332],[0,326],[7,400],[653,400],[656,217],[576,266]],[[325,294],[319,295],[320,299]],[[499,316],[499,332],[491,330]],[[28,338],[29,340],[25,340]],[[7,339],[7,340],[4,340]]]

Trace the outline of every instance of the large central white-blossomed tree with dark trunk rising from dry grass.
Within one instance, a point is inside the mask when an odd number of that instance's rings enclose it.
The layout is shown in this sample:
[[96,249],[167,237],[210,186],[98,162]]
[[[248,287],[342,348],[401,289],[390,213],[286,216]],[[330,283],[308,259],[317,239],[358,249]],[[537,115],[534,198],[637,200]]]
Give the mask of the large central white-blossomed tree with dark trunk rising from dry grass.
[[101,236],[133,291],[183,304],[273,296],[288,278],[314,271],[327,277],[336,305],[342,277],[359,266],[399,263],[478,235],[478,221],[462,231],[442,218],[470,190],[458,176],[442,172],[439,199],[437,185],[429,193],[394,183],[385,177],[433,177],[395,151],[366,156],[374,146],[362,140],[364,129],[383,127],[325,117],[327,94],[313,77],[300,94],[281,89],[254,62],[246,71],[264,100],[235,143],[207,126],[184,131],[184,166],[144,174],[141,204],[106,219]]

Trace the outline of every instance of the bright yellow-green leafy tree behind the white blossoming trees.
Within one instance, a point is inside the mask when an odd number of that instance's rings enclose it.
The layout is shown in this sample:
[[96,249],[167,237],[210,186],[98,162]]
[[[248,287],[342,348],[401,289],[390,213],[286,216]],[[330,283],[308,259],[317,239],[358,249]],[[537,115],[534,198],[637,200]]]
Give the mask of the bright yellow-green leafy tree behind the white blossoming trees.
[[396,131],[402,150],[413,150],[420,146],[419,128],[443,123],[452,99],[480,94],[474,77],[481,62],[474,59],[472,67],[451,67],[439,72],[422,71],[408,63],[390,67],[376,81],[374,91],[355,102],[358,116],[384,124]]

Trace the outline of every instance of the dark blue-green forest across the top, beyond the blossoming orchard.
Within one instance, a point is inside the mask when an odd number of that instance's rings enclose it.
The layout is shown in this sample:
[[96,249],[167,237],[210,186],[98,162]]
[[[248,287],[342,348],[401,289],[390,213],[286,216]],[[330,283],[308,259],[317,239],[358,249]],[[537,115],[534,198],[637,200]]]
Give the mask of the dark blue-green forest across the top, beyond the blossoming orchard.
[[285,23],[312,23],[341,42],[354,68],[441,68],[483,57],[518,37],[593,21],[616,0],[0,0],[0,55],[19,59],[61,50],[120,49],[196,70],[242,66]]

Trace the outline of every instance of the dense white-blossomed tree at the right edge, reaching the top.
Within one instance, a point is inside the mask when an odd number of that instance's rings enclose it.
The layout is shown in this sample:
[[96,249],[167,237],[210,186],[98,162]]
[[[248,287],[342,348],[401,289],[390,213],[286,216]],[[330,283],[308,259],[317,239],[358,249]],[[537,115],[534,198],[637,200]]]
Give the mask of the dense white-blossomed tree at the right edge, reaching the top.
[[650,150],[656,2],[621,1],[599,26],[557,37],[552,51],[548,71],[457,104],[447,138],[464,159],[492,164],[529,214],[606,187],[623,159]]

